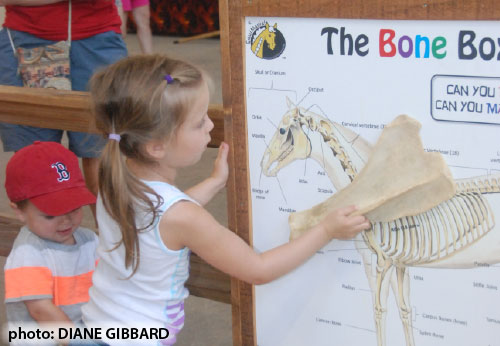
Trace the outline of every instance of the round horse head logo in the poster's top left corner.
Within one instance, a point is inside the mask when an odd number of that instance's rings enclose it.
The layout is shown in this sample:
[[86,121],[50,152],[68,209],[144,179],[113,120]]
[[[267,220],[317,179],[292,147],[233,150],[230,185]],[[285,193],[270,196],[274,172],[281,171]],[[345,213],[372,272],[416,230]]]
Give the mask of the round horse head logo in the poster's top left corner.
[[276,59],[285,50],[286,42],[278,24],[270,26],[262,22],[254,26],[249,34],[248,42],[252,52],[261,59]]

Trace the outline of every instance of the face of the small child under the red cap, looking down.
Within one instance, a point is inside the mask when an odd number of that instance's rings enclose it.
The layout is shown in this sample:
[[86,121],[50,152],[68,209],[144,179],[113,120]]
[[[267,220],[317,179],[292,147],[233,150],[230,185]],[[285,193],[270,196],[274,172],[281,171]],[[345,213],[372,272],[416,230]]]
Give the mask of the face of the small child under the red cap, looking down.
[[75,209],[64,215],[50,216],[40,211],[29,201],[22,209],[15,204],[12,207],[16,211],[19,220],[40,238],[66,245],[75,244],[73,232],[82,222],[82,208]]

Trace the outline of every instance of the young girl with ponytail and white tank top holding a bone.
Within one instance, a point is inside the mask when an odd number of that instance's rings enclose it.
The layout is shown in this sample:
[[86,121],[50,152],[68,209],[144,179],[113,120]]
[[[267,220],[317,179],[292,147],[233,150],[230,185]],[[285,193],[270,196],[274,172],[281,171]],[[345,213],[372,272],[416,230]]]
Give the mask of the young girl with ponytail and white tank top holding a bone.
[[364,216],[350,215],[354,207],[343,208],[300,238],[258,254],[203,208],[226,184],[227,144],[208,179],[185,192],[174,186],[177,170],[200,159],[214,127],[200,70],[160,55],[129,57],[97,73],[90,90],[109,141],[99,170],[100,262],[83,309],[87,325],[161,326],[172,344],[184,325],[190,250],[231,276],[263,284],[331,239],[369,227]]

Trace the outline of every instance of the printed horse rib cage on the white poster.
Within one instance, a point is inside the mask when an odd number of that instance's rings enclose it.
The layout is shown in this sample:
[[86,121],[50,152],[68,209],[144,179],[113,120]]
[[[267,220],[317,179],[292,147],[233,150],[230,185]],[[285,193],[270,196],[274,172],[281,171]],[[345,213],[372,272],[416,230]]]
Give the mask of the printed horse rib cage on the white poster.
[[395,264],[425,265],[452,256],[490,232],[495,220],[486,193],[498,193],[495,178],[457,181],[457,194],[415,216],[373,224],[365,241]]

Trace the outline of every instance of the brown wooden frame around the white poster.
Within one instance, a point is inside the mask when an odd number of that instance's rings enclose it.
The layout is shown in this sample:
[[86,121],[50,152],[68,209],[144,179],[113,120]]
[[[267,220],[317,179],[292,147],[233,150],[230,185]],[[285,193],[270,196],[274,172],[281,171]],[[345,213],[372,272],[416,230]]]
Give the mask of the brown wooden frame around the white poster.
[[[493,0],[220,0],[225,138],[232,149],[228,185],[229,227],[251,244],[251,210],[245,116],[244,19],[254,17],[311,17],[387,20],[498,20]],[[235,160],[238,158],[238,160]],[[254,291],[231,281],[233,344],[255,345]]]

